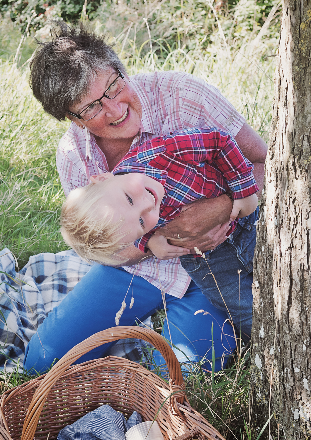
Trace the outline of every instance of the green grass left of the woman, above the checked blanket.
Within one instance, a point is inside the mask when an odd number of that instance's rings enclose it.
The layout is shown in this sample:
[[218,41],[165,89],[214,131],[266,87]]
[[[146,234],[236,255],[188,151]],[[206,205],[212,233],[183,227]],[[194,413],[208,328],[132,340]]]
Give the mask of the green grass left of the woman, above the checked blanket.
[[20,267],[30,255],[66,249],[58,231],[64,196],[55,150],[68,124],[44,113],[27,76],[0,59],[0,246]]

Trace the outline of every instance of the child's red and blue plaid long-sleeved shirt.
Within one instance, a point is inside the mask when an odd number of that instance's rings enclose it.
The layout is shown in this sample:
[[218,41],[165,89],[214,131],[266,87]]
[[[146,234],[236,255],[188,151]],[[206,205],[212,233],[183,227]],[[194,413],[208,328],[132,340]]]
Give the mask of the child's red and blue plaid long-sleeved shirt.
[[[187,203],[202,197],[218,197],[230,190],[234,199],[255,194],[258,187],[253,169],[234,139],[214,127],[176,131],[147,140],[129,151],[113,174],[142,172],[165,189],[159,221],[135,246],[146,252],[153,232],[178,216]],[[228,235],[236,224],[234,220]]]

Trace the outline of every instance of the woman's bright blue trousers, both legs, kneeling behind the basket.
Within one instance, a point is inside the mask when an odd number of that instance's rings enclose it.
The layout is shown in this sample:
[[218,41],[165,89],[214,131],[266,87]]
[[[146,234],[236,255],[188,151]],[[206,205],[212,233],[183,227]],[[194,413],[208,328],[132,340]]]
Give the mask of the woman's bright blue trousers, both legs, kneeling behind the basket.
[[[94,264],[38,327],[37,334],[33,335],[27,345],[24,367],[43,373],[55,358],[60,359],[74,345],[96,332],[114,327],[116,313],[121,307],[131,279],[132,275],[124,269]],[[133,277],[132,286],[135,302],[130,309],[131,294],[128,294],[128,305],[119,323],[121,326],[135,326],[137,321],[143,321],[155,310],[163,308],[161,291],[157,287],[139,276]],[[235,348],[232,326],[228,323],[223,326],[227,319],[226,313],[209,304],[194,282],[190,283],[183,298],[166,294],[166,307],[173,344],[191,361],[212,359],[213,337],[215,370],[220,370],[223,353],[229,356],[231,349]],[[194,315],[200,309],[209,311],[210,315]],[[169,339],[167,322],[163,334]],[[75,363],[101,358],[111,345],[101,345]],[[187,361],[181,351],[174,349],[180,362]],[[164,363],[159,354],[155,356],[155,361],[157,365]]]

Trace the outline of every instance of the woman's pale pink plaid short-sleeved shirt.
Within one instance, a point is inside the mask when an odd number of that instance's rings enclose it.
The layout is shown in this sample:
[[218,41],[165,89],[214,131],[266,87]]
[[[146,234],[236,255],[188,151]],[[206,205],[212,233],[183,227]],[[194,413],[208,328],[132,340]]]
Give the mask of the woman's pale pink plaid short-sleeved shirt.
[[[146,139],[191,127],[215,126],[236,136],[245,122],[216,87],[189,73],[143,73],[130,81],[143,106],[140,130],[131,149]],[[87,185],[93,174],[109,171],[94,136],[73,122],[60,140],[56,165],[66,197],[74,188]],[[149,257],[124,269],[178,298],[190,283],[179,258]]]

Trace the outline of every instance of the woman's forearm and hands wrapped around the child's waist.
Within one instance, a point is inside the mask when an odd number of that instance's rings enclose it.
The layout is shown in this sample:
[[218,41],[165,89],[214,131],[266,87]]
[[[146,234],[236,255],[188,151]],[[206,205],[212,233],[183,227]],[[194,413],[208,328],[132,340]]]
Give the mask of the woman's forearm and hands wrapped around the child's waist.
[[232,202],[226,194],[202,198],[184,206],[178,217],[157,229],[154,235],[163,235],[173,246],[182,245],[191,253],[195,253],[194,246],[202,252],[215,249],[227,238],[231,211]]

